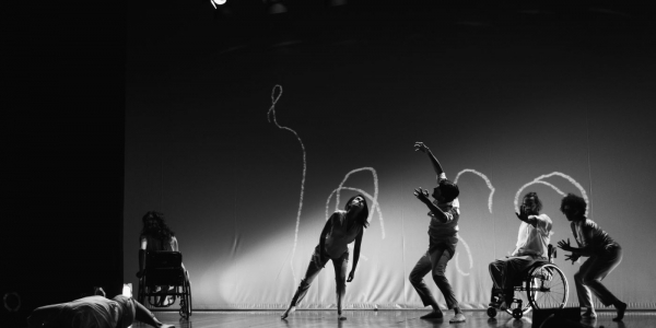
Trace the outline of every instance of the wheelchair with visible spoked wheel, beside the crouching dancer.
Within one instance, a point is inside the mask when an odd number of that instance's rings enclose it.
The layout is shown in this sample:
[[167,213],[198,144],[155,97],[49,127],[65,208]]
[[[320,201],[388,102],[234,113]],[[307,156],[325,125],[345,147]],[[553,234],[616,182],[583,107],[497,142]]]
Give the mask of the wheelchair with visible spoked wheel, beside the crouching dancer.
[[[549,245],[549,259],[536,261],[515,281],[513,303],[505,309],[515,319],[520,319],[531,309],[563,308],[567,303],[567,279],[554,263],[555,248]],[[496,316],[499,308],[488,307],[488,316]]]

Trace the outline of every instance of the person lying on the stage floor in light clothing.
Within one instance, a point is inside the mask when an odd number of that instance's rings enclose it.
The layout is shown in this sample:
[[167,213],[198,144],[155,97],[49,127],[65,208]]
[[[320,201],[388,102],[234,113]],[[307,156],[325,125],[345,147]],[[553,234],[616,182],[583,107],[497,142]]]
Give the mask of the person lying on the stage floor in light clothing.
[[127,328],[134,320],[153,327],[168,328],[136,300],[116,295],[87,296],[69,303],[46,305],[32,312],[30,328]]

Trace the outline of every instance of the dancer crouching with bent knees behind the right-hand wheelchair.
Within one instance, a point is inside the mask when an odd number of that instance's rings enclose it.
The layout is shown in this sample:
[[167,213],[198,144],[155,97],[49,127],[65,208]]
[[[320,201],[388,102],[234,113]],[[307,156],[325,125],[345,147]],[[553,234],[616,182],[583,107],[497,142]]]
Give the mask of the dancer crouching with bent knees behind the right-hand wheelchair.
[[558,242],[558,247],[565,251],[572,251],[565,255],[565,260],[572,260],[574,263],[582,256],[589,257],[578,272],[574,274],[576,283],[576,294],[581,307],[586,307],[583,314],[584,318],[596,318],[597,313],[593,305],[591,292],[601,301],[605,306],[613,305],[618,311],[618,316],[613,321],[624,318],[626,303],[618,300],[604,284],[601,280],[606,278],[622,261],[622,247],[614,242],[605,231],[593,220],[585,216],[587,204],[585,200],[574,194],[567,194],[561,201],[561,212],[565,214],[572,234],[578,247],[570,245],[570,238],[565,242]]

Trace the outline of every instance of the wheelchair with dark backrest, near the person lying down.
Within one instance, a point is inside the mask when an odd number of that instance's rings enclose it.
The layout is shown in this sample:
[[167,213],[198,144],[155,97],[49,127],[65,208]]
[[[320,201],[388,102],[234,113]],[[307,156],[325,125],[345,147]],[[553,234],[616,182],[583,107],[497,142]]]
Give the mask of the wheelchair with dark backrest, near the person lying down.
[[137,301],[152,307],[169,307],[179,297],[180,316],[191,316],[191,284],[189,273],[183,267],[179,251],[148,251],[145,272],[139,278]]

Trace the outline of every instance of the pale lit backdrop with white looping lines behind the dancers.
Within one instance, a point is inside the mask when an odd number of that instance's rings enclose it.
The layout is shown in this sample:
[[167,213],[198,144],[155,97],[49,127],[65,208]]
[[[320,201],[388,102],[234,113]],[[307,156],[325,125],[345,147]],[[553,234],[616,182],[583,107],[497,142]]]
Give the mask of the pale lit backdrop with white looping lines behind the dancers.
[[[489,302],[488,263],[513,250],[514,202],[527,191],[542,199],[554,245],[572,238],[562,194],[585,192],[590,218],[624,249],[604,283],[632,308],[656,307],[654,65],[629,51],[485,51],[301,44],[199,55],[157,79],[129,80],[126,282],[137,285],[140,219],[159,210],[176,232],[196,308],[283,308],[327,215],[363,192],[371,226],[348,307],[421,307],[408,274],[429,243],[427,209],[412,196],[435,184],[427,157],[413,152],[423,141],[461,190],[447,278],[465,308]],[[579,265],[562,251],[557,263],[576,304]],[[335,306],[330,266],[301,307]]]

